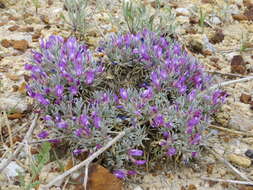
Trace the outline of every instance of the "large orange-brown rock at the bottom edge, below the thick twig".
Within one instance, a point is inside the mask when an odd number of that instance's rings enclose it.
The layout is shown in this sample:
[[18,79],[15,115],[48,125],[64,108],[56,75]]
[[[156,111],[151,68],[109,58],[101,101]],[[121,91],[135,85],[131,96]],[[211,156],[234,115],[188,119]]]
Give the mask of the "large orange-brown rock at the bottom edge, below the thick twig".
[[104,167],[94,164],[90,169],[88,187],[89,190],[121,190],[123,183]]

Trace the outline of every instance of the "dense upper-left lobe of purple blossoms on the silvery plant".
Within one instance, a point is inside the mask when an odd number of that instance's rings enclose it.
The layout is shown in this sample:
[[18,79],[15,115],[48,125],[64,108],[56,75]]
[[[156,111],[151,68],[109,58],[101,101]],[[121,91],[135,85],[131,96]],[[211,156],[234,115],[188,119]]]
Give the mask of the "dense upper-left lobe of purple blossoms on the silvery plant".
[[60,104],[66,94],[78,95],[93,85],[104,69],[87,47],[72,37],[64,41],[60,36],[50,36],[41,41],[39,52],[32,53],[35,64],[25,65],[33,81],[27,85],[27,93],[45,106]]

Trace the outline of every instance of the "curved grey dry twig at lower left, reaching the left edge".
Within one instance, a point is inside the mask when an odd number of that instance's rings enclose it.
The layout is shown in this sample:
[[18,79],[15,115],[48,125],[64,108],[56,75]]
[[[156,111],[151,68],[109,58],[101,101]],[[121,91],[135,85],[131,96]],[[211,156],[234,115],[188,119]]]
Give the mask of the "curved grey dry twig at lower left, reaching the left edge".
[[14,153],[3,163],[2,167],[0,168],[0,173],[3,172],[3,170],[10,164],[10,162],[15,159],[17,157],[17,155],[19,154],[19,152],[22,150],[22,148],[24,147],[24,142],[31,136],[33,129],[36,125],[36,121],[37,121],[38,115],[35,115],[34,120],[32,121],[32,124],[30,126],[30,128],[28,129],[23,141],[18,145],[17,149],[14,151]]

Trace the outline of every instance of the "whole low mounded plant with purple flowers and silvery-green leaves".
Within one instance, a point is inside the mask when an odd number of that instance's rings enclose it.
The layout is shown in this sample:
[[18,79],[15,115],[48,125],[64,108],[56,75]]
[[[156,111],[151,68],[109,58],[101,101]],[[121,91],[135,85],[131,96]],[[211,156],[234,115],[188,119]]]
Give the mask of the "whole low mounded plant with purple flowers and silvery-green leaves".
[[[34,64],[25,66],[32,71],[27,92],[41,105],[48,130],[55,131],[38,137],[66,137],[76,156],[92,154],[127,131],[102,161],[119,178],[137,174],[147,162],[154,169],[175,155],[184,161],[196,157],[210,116],[226,97],[208,89],[211,78],[197,60],[179,43],[148,30],[112,37],[98,49],[109,61],[101,64],[74,38],[58,36],[33,52]],[[122,68],[132,77],[138,68],[142,80],[130,77],[117,88],[105,84],[108,73],[116,82],[126,80]]]

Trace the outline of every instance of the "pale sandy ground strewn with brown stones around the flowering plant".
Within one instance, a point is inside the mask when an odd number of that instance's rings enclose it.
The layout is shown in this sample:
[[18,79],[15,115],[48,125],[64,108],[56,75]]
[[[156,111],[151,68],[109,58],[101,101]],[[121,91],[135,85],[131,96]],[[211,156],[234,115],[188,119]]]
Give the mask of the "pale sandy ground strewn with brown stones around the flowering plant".
[[[93,1],[93,7],[96,1]],[[154,1],[143,1],[153,9]],[[117,31],[117,25],[111,23],[110,15],[120,17],[119,2],[104,0],[94,12],[91,26],[87,31],[86,42],[95,47],[99,39]],[[176,34],[186,49],[200,60],[206,70],[217,76],[218,81],[240,79],[253,75],[253,1],[252,0],[178,0],[162,1],[169,4],[176,14],[178,24]],[[7,158],[15,144],[22,141],[32,118],[32,101],[25,93],[26,71],[24,64],[29,63],[32,49],[39,46],[39,39],[51,34],[64,37],[70,35],[68,25],[62,19],[67,15],[60,0],[41,0],[35,9],[30,0],[8,2],[0,0],[0,155]],[[203,25],[199,24],[204,15]],[[230,95],[228,102],[216,115],[211,126],[217,134],[210,139],[210,151],[189,168],[173,167],[161,175],[146,175],[138,184],[126,184],[125,189],[134,190],[204,190],[204,189],[240,189],[250,190],[252,186],[235,185],[227,182],[204,180],[203,177],[250,181],[253,180],[253,81],[235,83],[224,87]],[[40,123],[33,133],[39,131]],[[11,132],[10,130],[11,129]],[[10,140],[10,135],[12,140]],[[37,145],[31,145],[31,154]],[[245,152],[248,150],[247,154]],[[252,150],[252,152],[250,151]],[[214,152],[213,152],[214,151]],[[14,159],[13,167],[27,169],[27,159]],[[222,159],[227,162],[224,163]],[[73,165],[64,158],[63,163]],[[72,163],[72,164],[71,164]],[[231,164],[229,164],[231,163]],[[39,179],[48,183],[59,175],[55,163],[43,168]],[[236,170],[236,171],[235,171]],[[6,178],[6,172],[0,174],[0,189],[20,189],[18,177],[14,171]],[[78,174],[76,174],[78,176]],[[113,176],[103,168],[97,168],[94,178],[112,179]],[[100,175],[100,176],[99,176]],[[73,177],[73,176],[72,176]],[[80,176],[79,176],[80,177]],[[100,177],[100,178],[99,178]],[[106,178],[108,177],[108,178]],[[73,177],[74,178],[74,177]],[[29,180],[28,178],[26,180]],[[108,183],[110,180],[105,180]],[[65,182],[65,180],[64,180]],[[98,183],[93,180],[92,183]],[[66,183],[67,184],[67,183]],[[95,184],[94,189],[119,189],[119,186]],[[97,186],[96,186],[97,185]],[[52,188],[59,189],[59,188]],[[81,189],[78,185],[65,189]]]

